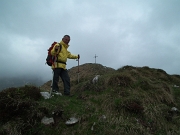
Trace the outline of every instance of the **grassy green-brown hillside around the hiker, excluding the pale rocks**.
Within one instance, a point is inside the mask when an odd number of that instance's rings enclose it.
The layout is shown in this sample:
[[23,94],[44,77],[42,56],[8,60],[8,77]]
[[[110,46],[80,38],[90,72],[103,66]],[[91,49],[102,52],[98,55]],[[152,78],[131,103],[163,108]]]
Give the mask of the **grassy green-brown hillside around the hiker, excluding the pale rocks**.
[[[162,69],[117,70],[84,64],[69,70],[73,96],[44,99],[51,81],[0,92],[1,135],[179,135],[180,76]],[[100,75],[97,83],[93,78]],[[59,86],[63,93],[63,84]],[[53,113],[52,113],[53,112]],[[53,118],[44,125],[42,118]],[[66,125],[70,117],[78,122]]]

